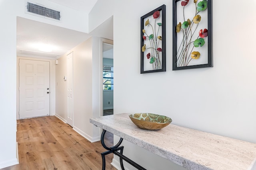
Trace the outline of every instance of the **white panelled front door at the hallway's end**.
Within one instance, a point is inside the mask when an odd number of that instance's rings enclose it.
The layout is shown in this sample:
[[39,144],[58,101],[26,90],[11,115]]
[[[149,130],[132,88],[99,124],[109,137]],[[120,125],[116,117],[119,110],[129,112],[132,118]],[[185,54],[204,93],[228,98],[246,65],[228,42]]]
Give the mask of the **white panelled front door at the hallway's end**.
[[50,115],[50,62],[19,60],[19,117]]

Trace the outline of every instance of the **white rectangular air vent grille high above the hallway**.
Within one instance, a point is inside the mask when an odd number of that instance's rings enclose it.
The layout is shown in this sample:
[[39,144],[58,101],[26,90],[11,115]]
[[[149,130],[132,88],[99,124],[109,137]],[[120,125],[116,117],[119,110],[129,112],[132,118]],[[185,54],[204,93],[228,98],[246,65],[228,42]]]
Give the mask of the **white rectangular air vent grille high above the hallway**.
[[27,12],[60,21],[60,11],[27,2]]

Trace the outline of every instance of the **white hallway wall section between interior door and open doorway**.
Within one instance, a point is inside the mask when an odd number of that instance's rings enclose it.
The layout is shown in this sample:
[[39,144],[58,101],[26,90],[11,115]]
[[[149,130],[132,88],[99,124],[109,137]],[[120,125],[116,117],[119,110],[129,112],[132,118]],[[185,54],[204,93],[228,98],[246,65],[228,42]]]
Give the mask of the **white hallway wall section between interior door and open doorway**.
[[91,137],[92,126],[86,117],[92,116],[92,38],[73,51],[74,129]]

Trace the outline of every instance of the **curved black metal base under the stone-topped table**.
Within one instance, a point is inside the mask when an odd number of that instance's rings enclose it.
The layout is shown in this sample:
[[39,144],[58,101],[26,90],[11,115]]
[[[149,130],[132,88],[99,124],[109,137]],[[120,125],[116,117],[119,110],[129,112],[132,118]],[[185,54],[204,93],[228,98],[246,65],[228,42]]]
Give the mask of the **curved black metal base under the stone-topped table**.
[[[106,169],[106,159],[105,159],[105,155],[110,154],[110,153],[114,153],[115,155],[119,156],[120,158],[120,166],[122,168],[122,170],[124,170],[124,164],[123,164],[123,160],[125,160],[126,162],[128,162],[129,164],[131,164],[132,166],[134,166],[135,168],[137,168],[138,170],[146,170],[145,168],[143,168],[142,166],[140,166],[139,164],[137,164],[136,162],[130,160],[129,158],[127,158],[126,156],[123,155],[123,150],[124,147],[119,147],[123,141],[122,138],[120,138],[119,142],[114,145],[113,147],[107,147],[104,143],[104,136],[105,136],[106,130],[103,129],[102,134],[101,134],[101,145],[108,151],[106,152],[102,152],[101,156],[102,156],[102,170]],[[120,152],[118,152],[120,150]]]

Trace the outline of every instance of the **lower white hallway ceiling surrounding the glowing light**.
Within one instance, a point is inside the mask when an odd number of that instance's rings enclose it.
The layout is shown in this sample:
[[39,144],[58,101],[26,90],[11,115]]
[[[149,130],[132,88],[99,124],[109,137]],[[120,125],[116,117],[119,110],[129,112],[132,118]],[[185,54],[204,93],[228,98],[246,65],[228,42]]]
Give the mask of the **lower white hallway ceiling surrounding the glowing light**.
[[[23,57],[58,58],[90,37],[89,34],[54,25],[17,18],[17,55]],[[41,45],[49,45],[52,51],[44,53]],[[32,55],[32,56],[30,56]]]

